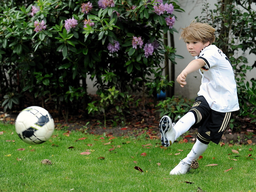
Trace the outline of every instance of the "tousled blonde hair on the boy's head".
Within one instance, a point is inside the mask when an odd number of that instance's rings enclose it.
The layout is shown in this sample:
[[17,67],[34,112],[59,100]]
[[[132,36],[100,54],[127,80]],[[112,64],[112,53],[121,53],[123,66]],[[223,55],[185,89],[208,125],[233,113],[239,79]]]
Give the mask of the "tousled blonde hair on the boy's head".
[[208,23],[199,23],[197,20],[192,21],[189,26],[183,28],[180,34],[180,39],[193,39],[202,43],[210,42],[210,45],[215,42],[215,29]]

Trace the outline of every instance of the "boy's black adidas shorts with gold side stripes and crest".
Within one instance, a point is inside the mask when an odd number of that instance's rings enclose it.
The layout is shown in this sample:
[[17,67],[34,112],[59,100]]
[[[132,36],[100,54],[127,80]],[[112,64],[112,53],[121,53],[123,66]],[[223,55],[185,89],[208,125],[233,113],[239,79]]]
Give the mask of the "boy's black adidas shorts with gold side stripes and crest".
[[195,103],[189,112],[195,115],[195,124],[192,127],[198,128],[197,139],[204,144],[209,144],[210,141],[218,144],[234,114],[234,112],[222,113],[212,110],[204,96],[195,98]]

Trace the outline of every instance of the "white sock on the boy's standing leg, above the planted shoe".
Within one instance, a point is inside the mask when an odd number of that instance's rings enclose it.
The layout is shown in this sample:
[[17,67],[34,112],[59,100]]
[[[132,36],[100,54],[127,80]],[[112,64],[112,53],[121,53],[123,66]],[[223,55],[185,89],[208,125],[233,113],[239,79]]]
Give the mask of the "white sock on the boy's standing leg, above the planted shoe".
[[187,162],[188,164],[191,164],[191,162],[194,159],[198,159],[198,157],[204,153],[207,147],[208,147],[208,144],[204,144],[201,141],[196,140],[194,146],[192,147],[192,150],[189,152],[187,157],[183,159],[183,161]]

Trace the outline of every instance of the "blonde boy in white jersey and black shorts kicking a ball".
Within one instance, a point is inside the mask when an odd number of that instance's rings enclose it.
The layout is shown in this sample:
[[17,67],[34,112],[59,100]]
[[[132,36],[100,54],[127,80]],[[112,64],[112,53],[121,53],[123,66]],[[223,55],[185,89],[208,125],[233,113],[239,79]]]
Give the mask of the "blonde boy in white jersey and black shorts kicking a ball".
[[215,29],[208,23],[192,22],[181,32],[187,50],[195,57],[176,81],[181,87],[186,77],[199,70],[202,76],[198,97],[186,115],[175,125],[163,116],[159,123],[161,143],[169,147],[190,127],[198,128],[197,140],[186,158],[171,170],[170,175],[186,174],[194,159],[204,153],[210,141],[218,144],[234,111],[239,110],[233,67],[226,55],[212,43]]

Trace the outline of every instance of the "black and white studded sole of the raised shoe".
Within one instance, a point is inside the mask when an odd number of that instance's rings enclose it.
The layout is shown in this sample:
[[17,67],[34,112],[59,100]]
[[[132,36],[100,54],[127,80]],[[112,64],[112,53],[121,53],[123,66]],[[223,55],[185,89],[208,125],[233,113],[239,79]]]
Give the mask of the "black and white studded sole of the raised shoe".
[[172,142],[165,137],[165,133],[170,129],[170,126],[172,126],[171,124],[172,124],[172,121],[169,116],[163,116],[159,122],[161,143],[164,147],[169,147],[172,144]]

